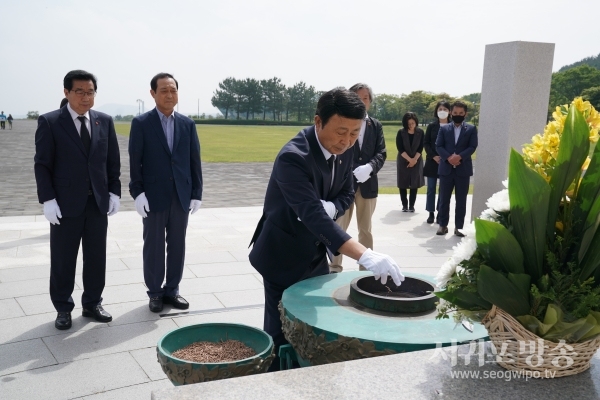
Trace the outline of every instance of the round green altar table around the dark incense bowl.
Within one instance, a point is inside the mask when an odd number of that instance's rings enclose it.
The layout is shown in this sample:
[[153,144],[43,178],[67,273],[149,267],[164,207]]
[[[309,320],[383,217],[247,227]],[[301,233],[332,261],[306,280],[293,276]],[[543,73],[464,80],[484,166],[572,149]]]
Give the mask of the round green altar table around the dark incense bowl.
[[[280,304],[283,332],[294,347],[300,365],[435,348],[437,343],[469,342],[487,338],[483,325],[473,332],[451,319],[435,319],[435,309],[421,313],[389,313],[366,309],[350,295],[353,279],[371,275],[356,271],[323,275],[289,287]],[[432,277],[407,277],[434,284]]]

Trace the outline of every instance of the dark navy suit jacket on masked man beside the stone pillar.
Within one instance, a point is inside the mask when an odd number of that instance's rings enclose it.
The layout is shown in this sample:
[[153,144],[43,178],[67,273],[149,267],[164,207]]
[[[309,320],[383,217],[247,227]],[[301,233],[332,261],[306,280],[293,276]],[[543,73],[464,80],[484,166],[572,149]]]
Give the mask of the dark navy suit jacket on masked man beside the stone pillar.
[[456,144],[454,143],[454,123],[442,126],[435,142],[436,150],[441,157],[438,174],[450,175],[453,167],[448,162],[448,157],[455,153],[461,157],[460,164],[455,168],[456,175],[472,176],[471,156],[477,149],[477,143],[477,128],[471,124],[462,123]]

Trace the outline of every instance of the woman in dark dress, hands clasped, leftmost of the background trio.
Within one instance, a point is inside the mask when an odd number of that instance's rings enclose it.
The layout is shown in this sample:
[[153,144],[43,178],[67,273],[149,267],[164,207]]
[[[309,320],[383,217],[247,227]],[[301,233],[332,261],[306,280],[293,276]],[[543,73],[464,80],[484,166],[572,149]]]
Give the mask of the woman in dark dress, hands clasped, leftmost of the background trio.
[[[400,189],[400,200],[403,212],[415,212],[415,200],[417,190],[425,185],[423,180],[423,130],[417,128],[419,119],[412,112],[407,112],[402,117],[403,129],[396,134],[396,147],[398,158],[396,169],[398,172],[398,188]],[[407,190],[410,189],[410,200],[406,198]]]

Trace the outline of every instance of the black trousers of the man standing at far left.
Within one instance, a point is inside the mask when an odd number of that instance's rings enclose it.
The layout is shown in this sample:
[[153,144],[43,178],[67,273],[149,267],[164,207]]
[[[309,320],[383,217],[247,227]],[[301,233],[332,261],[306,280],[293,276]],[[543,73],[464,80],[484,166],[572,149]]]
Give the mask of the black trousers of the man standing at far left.
[[58,312],[75,307],[73,288],[79,244],[83,250],[84,308],[102,302],[106,275],[106,230],[108,217],[98,209],[93,195],[88,196],[85,211],[78,217],[63,217],[60,225],[50,224],[50,299]]

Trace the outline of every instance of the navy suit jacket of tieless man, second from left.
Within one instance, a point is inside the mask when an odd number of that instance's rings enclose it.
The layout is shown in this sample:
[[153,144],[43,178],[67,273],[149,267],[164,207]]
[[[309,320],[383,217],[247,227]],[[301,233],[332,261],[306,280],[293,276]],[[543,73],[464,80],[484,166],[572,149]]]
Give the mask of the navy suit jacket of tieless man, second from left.
[[129,134],[131,181],[135,199],[146,193],[150,211],[164,211],[171,204],[173,188],[181,207],[188,211],[190,200],[202,200],[200,141],[191,119],[175,115],[173,151],[169,150],[156,108],[135,117]]

